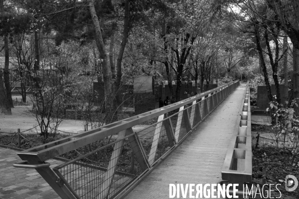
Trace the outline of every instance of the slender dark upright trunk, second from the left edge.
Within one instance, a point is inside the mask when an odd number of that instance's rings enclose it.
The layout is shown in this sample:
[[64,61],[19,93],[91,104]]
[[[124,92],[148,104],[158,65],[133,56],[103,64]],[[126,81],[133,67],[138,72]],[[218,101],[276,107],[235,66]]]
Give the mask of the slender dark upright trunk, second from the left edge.
[[11,98],[11,89],[9,82],[9,47],[8,47],[8,35],[4,35],[4,50],[5,50],[5,61],[4,61],[4,70],[3,70],[3,79],[6,89],[7,101],[10,104],[10,107],[13,108],[13,102]]

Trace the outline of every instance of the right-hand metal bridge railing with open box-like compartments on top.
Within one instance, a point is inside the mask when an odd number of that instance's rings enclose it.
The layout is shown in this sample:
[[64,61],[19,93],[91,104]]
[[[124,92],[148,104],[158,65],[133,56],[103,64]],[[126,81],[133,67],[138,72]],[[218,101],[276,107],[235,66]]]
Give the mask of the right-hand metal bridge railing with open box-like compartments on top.
[[251,185],[252,181],[251,145],[250,90],[249,84],[247,84],[240,114],[221,172],[222,180],[226,181],[226,183],[239,184],[238,192],[236,193],[239,198],[243,198],[243,185]]

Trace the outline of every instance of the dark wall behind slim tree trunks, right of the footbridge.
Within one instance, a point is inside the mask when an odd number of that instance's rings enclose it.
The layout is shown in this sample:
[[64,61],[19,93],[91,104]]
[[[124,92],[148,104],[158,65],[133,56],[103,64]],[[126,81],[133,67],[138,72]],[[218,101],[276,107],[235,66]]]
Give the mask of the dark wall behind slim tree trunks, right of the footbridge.
[[[288,98],[288,94],[287,92],[285,91],[286,88],[284,86],[284,84],[280,84],[280,94],[281,94],[281,102],[282,104],[285,103],[285,101],[287,100]],[[276,95],[276,88],[275,88],[275,85],[272,84],[271,85],[271,93],[272,95]],[[269,101],[269,98],[268,98],[268,92],[267,92],[267,89],[266,89],[266,86],[258,86],[258,94],[257,94],[257,107],[259,107],[260,110],[266,110],[267,108],[270,108],[270,101]],[[273,101],[276,101],[275,98],[273,98]]]

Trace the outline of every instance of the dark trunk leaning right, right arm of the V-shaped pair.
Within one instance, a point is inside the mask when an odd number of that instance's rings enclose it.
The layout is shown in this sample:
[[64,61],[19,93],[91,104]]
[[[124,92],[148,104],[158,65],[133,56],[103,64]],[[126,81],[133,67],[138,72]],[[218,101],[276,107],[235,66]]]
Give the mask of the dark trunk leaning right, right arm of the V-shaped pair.
[[122,57],[126,48],[126,44],[128,41],[128,37],[129,37],[129,32],[130,32],[130,18],[129,18],[129,14],[130,14],[130,10],[129,10],[129,0],[126,0],[125,2],[125,15],[124,15],[124,29],[123,29],[123,37],[122,37],[122,41],[121,41],[121,45],[119,48],[119,52],[118,52],[118,57],[117,57],[117,75],[116,75],[116,89],[118,90],[119,86],[120,86],[120,81],[121,81],[121,76],[122,76],[122,70],[121,70],[121,62],[122,62]]

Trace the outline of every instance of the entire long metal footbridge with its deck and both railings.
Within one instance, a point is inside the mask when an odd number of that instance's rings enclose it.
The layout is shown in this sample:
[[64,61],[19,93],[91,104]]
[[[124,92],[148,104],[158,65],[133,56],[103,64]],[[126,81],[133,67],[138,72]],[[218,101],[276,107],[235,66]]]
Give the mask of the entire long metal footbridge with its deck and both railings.
[[[14,167],[35,169],[62,199],[166,199],[170,184],[216,183],[238,183],[242,196],[252,176],[250,118],[248,85],[234,81],[19,152]],[[60,164],[50,167],[53,158]]]

